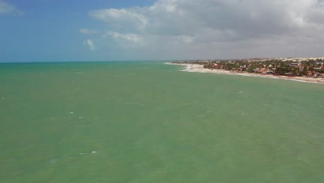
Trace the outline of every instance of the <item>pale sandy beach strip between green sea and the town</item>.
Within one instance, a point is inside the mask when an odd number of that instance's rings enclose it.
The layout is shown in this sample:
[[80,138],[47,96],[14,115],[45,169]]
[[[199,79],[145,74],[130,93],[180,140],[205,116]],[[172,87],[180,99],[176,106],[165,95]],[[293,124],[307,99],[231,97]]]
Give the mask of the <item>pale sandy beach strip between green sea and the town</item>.
[[237,73],[237,72],[232,72],[232,71],[226,71],[224,69],[213,69],[213,70],[204,69],[204,65],[200,65],[200,64],[175,64],[175,63],[170,63],[170,62],[167,62],[165,64],[184,66],[184,67],[186,67],[186,69],[183,69],[181,71],[187,71],[187,72],[222,73],[222,74],[231,74],[231,75],[239,75],[239,76],[254,76],[254,77],[260,77],[260,78],[273,78],[273,79],[280,79],[280,80],[293,80],[293,81],[298,81],[298,82],[324,84],[324,78],[273,76],[273,75],[261,75],[258,73]]

